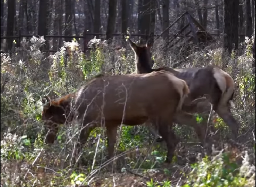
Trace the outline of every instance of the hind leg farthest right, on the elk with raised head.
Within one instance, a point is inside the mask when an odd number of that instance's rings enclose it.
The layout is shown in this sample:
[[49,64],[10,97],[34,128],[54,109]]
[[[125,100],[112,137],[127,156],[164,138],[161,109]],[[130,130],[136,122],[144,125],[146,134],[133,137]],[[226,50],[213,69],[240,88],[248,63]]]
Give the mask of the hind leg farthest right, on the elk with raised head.
[[225,123],[227,123],[228,127],[232,131],[232,139],[235,140],[237,138],[239,124],[236,122],[230,109],[228,109],[228,106],[219,106],[216,112],[219,117],[222,118]]

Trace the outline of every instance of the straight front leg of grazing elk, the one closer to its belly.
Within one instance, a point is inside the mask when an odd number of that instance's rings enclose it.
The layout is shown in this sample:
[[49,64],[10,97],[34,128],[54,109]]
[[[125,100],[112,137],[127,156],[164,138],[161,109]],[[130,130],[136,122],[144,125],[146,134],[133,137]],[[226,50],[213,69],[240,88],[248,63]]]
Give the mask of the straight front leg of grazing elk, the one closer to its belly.
[[108,159],[114,156],[114,145],[117,142],[117,128],[118,126],[106,127],[106,134],[108,136]]

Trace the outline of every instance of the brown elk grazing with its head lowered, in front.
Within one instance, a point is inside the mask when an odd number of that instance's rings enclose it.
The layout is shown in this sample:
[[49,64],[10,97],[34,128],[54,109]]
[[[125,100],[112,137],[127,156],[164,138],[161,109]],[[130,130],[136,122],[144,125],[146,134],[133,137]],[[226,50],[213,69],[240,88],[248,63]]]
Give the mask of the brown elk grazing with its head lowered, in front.
[[89,133],[103,125],[111,158],[120,124],[135,126],[150,121],[166,141],[166,162],[170,162],[178,139],[168,129],[188,93],[185,81],[165,71],[96,77],[75,93],[55,100],[45,97],[42,120],[47,131],[46,143],[54,143],[59,124],[77,118],[82,123],[78,152]]

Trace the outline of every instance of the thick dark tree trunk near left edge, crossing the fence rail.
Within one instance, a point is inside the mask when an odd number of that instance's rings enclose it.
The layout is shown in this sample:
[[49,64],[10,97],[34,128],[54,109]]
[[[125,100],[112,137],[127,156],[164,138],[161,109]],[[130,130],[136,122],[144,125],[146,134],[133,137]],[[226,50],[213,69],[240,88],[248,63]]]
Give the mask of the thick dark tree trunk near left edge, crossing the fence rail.
[[[16,2],[15,0],[8,0],[7,1],[7,27],[6,27],[6,35],[7,36],[12,36],[14,32],[14,19],[15,19],[15,14],[16,14]],[[7,39],[7,50],[12,49],[12,42],[13,39]]]

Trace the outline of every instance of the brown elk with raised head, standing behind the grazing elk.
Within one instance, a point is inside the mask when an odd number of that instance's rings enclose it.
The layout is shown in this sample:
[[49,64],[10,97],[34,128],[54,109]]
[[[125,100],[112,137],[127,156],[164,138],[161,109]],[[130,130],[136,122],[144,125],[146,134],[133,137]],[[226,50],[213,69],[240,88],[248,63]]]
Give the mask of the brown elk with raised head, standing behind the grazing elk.
[[[211,109],[209,109],[209,105],[207,106],[207,104],[210,102],[213,106],[212,109],[218,113],[219,117],[221,117],[232,130],[232,138],[236,139],[239,125],[230,111],[235,90],[233,78],[223,70],[213,66],[182,69],[161,67],[153,69],[150,64],[150,49],[152,47],[150,41],[151,40],[148,40],[146,44],[138,45],[128,39],[130,47],[135,52],[136,73],[145,74],[166,70],[186,81],[190,90],[187,99],[184,101],[183,112],[178,112],[174,117],[174,121],[193,127],[201,142],[204,143],[207,124],[197,124],[196,117],[189,113],[200,113],[204,111],[209,115]],[[197,104],[190,104],[191,106],[188,107],[191,101],[203,96],[207,96],[206,101],[198,101]],[[208,112],[206,110],[208,110]],[[207,120],[203,123],[207,123]]]

